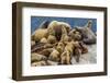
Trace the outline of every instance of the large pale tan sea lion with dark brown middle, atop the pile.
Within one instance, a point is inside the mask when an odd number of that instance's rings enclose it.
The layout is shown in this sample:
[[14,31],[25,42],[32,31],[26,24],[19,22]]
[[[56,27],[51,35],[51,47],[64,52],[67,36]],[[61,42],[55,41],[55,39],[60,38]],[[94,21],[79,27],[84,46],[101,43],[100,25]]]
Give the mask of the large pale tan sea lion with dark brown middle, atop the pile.
[[58,42],[63,34],[67,34],[70,29],[72,27],[69,24],[58,21],[52,21],[47,27],[48,34],[55,36]]

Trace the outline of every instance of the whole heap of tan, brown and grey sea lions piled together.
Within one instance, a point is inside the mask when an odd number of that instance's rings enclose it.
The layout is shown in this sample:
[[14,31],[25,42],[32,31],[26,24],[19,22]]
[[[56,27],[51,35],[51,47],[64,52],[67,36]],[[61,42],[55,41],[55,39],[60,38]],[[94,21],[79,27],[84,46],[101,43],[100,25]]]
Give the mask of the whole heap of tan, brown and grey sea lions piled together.
[[72,58],[79,62],[88,52],[86,45],[96,44],[91,31],[92,21],[85,26],[72,26],[66,22],[44,21],[31,35],[31,66],[72,64]]

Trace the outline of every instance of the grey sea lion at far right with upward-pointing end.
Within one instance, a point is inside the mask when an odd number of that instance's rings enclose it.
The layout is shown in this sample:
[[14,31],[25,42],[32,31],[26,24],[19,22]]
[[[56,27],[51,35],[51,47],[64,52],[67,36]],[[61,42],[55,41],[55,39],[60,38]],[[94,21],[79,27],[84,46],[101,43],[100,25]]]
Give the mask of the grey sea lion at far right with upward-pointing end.
[[82,42],[87,45],[96,44],[97,37],[95,33],[91,31],[92,22],[88,21],[88,23],[84,27],[76,26],[76,31],[81,34]]

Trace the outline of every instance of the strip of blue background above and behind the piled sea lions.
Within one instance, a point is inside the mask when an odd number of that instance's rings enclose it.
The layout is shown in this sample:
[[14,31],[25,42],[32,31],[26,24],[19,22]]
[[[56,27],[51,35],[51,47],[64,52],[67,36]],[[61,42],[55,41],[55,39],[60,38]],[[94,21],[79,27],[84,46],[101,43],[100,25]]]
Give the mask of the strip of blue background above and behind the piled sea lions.
[[97,19],[31,16],[31,33],[33,33],[44,21],[66,22],[72,27],[74,27],[74,26],[84,26],[88,22],[88,20],[92,21],[92,31],[97,32]]

